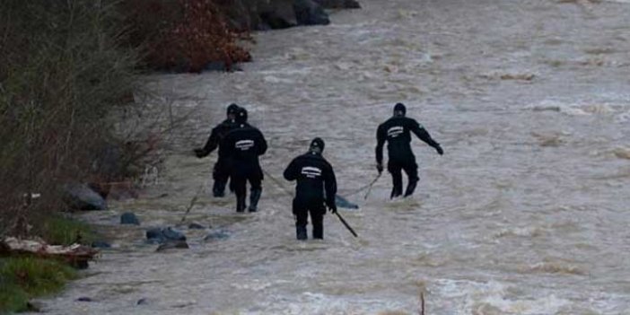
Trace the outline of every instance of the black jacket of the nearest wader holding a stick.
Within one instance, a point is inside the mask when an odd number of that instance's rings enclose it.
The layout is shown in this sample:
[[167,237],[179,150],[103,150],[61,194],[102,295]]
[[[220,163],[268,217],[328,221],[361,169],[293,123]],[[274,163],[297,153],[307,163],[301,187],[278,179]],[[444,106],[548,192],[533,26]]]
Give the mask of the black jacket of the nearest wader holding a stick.
[[337,194],[335,171],[321,154],[309,152],[293,159],[284,170],[284,179],[297,180],[296,200],[304,202],[323,200],[326,191],[326,204],[329,207],[335,205]]

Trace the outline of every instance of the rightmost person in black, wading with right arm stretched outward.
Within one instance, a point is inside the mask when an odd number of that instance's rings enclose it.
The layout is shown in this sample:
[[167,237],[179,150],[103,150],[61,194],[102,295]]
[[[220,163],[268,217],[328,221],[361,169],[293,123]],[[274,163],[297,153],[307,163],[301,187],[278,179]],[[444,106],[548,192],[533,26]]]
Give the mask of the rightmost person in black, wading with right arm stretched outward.
[[416,119],[405,117],[407,109],[402,103],[394,106],[394,116],[382,123],[376,132],[376,169],[379,174],[383,171],[383,144],[387,142],[387,151],[389,153],[389,161],[387,170],[391,173],[391,179],[394,187],[391,189],[390,198],[402,195],[402,172],[407,173],[409,182],[405,196],[408,197],[414,193],[418,182],[418,165],[416,164],[416,156],[411,151],[411,135],[413,132],[420,140],[432,146],[437,153],[442,155],[444,152],[442,146],[435,142],[431,135],[418,124]]

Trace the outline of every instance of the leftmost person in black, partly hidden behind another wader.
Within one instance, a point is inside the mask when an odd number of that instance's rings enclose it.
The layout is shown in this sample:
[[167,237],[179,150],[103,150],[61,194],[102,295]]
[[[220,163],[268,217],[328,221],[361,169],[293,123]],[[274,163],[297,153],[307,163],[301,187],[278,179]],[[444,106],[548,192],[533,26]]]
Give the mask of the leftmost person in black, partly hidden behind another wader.
[[[221,144],[221,140],[223,136],[227,135],[234,127],[236,127],[236,123],[234,122],[234,118],[236,115],[236,109],[239,109],[239,106],[232,103],[227,108],[227,118],[223,120],[223,122],[212,129],[210,133],[210,137],[206,141],[206,145],[203,148],[195,149],[195,155],[198,158],[206,157],[208,154],[212,153],[214,149],[216,149],[219,144]],[[225,163],[225,158],[221,154],[221,150],[219,150],[219,157],[214,163],[214,169],[212,172],[212,177],[214,179],[214,185],[212,188],[212,193],[214,197],[223,197],[225,196],[225,184],[230,178],[230,171],[227,169],[227,165]]]

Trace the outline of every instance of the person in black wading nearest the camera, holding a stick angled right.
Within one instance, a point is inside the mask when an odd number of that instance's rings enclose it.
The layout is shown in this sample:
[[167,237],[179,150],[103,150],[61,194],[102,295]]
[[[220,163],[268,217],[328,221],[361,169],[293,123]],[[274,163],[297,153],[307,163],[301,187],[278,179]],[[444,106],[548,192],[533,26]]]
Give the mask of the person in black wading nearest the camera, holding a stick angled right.
[[[295,215],[295,232],[298,240],[306,240],[306,224],[309,214],[313,225],[313,239],[324,238],[324,214],[326,207],[337,213],[335,195],[337,179],[332,166],[321,156],[324,141],[315,138],[311,142],[309,152],[302,154],[284,170],[284,179],[297,180],[295,198],[293,198],[293,214]],[[326,192],[326,196],[324,196]]]

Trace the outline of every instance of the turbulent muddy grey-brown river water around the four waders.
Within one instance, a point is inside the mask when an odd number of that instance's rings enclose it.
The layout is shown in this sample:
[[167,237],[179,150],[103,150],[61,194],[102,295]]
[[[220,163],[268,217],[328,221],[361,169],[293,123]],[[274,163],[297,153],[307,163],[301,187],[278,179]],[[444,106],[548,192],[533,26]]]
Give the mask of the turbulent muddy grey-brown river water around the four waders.
[[[258,33],[233,74],[156,75],[178,113],[160,184],[86,217],[112,225],[81,280],[49,314],[630,314],[630,4],[363,0],[332,24]],[[445,150],[417,139],[416,196],[389,201],[389,176],[325,241],[294,240],[290,199],[267,176],[261,212],[209,197],[215,154],[197,160],[235,101],[270,144],[281,179],[309,140],[327,141],[340,193],[376,175],[375,131],[407,104]],[[282,181],[284,188],[293,189]],[[231,232],[155,253],[144,227],[190,221]],[[168,194],[164,196],[162,194]],[[162,196],[162,197],[161,197]],[[118,226],[136,211],[141,228]],[[94,302],[75,302],[88,296]],[[136,305],[145,299],[141,305]]]

